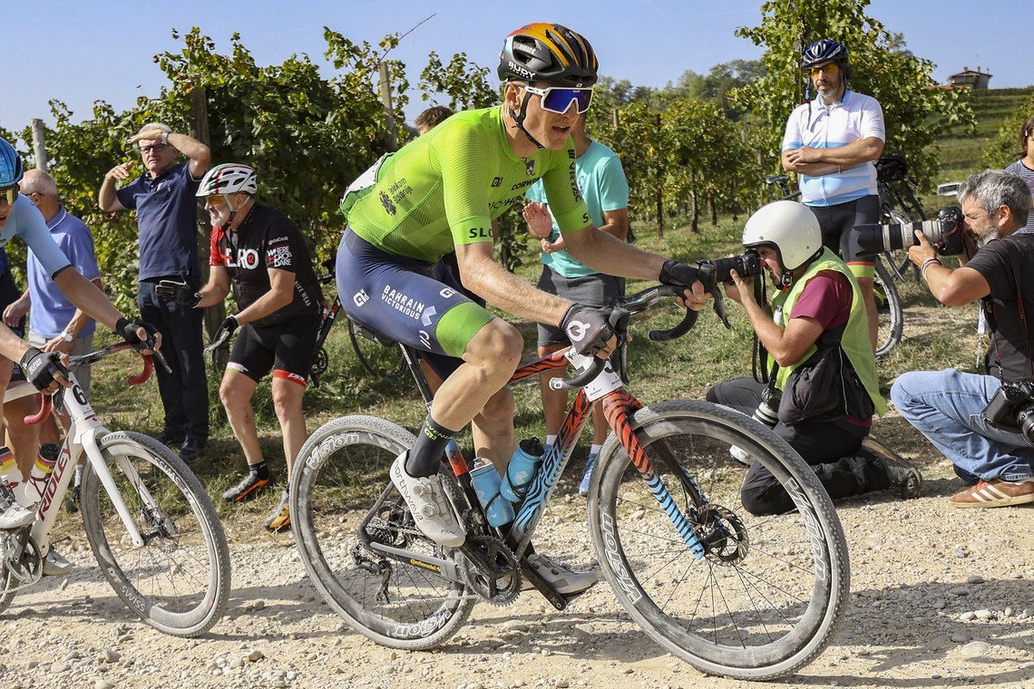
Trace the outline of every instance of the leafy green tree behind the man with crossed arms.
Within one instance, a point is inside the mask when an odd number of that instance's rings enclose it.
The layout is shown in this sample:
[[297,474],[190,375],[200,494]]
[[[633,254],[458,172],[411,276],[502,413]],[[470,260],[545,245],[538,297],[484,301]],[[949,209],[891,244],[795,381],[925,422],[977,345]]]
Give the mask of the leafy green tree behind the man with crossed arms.
[[774,167],[787,117],[804,90],[802,49],[823,37],[839,40],[851,53],[852,88],[883,106],[884,150],[903,154],[910,170],[930,187],[939,166],[942,134],[952,124],[972,127],[973,112],[960,93],[932,88],[933,63],[904,50],[900,34],[888,33],[865,15],[868,6],[869,0],[768,0],[761,5],[761,26],[736,30],[736,35],[768,49],[761,59],[765,74],[731,96],[758,116]]

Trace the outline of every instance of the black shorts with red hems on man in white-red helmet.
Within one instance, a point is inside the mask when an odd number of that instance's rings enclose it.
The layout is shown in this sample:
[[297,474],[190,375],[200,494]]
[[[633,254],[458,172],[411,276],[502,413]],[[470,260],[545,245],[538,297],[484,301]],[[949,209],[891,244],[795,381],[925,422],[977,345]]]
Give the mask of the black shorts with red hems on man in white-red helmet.
[[306,385],[318,332],[320,316],[315,314],[296,316],[266,327],[247,323],[237,336],[226,368],[255,382],[272,370],[276,378]]

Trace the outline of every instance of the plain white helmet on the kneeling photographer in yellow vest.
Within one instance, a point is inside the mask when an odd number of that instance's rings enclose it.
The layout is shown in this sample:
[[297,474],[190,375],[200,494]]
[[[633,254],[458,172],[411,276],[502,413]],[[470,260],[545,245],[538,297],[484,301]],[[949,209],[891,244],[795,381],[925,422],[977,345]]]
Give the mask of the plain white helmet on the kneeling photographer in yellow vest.
[[822,251],[822,229],[819,219],[803,203],[773,201],[747,221],[743,246],[774,248],[783,270],[789,273]]

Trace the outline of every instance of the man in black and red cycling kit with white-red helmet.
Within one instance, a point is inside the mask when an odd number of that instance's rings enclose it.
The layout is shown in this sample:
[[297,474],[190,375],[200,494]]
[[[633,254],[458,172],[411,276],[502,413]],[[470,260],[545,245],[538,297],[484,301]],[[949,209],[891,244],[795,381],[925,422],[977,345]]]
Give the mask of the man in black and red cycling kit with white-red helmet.
[[[273,481],[258,446],[251,398],[258,383],[273,371],[273,407],[283,432],[287,476],[308,432],[302,396],[312,367],[320,330],[323,295],[312,258],[301,232],[285,215],[256,203],[255,171],[247,165],[216,165],[202,179],[197,196],[212,222],[211,273],[200,292],[184,280],[162,280],[159,299],[181,306],[204,308],[218,304],[234,289],[239,311],[227,316],[213,343],[225,342],[241,327],[219,385],[248,473],[226,491],[229,502],[247,500]],[[287,491],[266,520],[270,531],[291,527]]]

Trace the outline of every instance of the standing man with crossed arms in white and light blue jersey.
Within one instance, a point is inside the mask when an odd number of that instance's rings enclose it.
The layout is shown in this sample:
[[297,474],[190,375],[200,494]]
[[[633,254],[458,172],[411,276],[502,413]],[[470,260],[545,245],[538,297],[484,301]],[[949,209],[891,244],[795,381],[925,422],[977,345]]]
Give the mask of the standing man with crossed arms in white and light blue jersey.
[[875,263],[861,256],[855,225],[880,221],[876,165],[886,138],[883,109],[872,96],[847,88],[847,46],[823,38],[804,51],[801,65],[818,96],[794,108],[783,136],[783,169],[800,176],[800,200],[815,213],[822,243],[840,253],[858,279],[876,349],[879,321],[873,300]]

